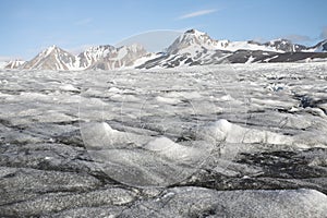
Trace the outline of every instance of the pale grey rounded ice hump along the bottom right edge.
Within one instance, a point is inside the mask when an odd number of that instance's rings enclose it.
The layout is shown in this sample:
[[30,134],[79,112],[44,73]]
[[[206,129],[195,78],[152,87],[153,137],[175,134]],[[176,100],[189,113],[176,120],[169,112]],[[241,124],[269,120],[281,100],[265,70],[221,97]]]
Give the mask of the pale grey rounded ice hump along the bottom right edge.
[[326,217],[327,196],[314,190],[230,191],[169,189],[157,204],[148,201],[123,215],[144,217]]

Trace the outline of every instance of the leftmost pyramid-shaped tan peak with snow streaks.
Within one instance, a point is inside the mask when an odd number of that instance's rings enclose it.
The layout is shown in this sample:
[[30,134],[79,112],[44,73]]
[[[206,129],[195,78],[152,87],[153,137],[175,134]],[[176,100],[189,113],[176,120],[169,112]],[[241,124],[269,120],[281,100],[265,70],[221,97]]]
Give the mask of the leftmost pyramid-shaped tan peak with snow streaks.
[[21,68],[26,70],[75,70],[76,57],[62,50],[57,46],[51,46],[37,55]]

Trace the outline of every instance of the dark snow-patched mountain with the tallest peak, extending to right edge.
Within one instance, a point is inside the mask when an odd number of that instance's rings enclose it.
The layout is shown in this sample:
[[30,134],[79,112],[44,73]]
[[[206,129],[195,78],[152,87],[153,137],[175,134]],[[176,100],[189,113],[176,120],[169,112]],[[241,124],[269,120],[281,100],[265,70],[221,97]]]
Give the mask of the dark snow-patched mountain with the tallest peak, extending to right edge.
[[326,41],[310,50],[305,46],[292,44],[287,39],[277,39],[265,44],[251,40],[215,40],[205,33],[191,29],[175,39],[167,49],[167,53],[149,60],[138,68],[312,61],[327,58],[327,52],[313,52],[323,51],[324,46],[327,47]]

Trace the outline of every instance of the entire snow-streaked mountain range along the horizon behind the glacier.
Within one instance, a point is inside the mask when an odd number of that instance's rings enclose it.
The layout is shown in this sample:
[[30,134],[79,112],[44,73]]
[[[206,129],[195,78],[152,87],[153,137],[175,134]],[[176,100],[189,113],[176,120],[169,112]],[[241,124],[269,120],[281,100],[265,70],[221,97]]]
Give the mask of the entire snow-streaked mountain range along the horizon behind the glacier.
[[114,48],[90,47],[74,56],[57,46],[38,53],[29,61],[11,61],[5,69],[20,70],[114,70],[174,68],[220,63],[266,63],[327,61],[327,39],[306,47],[287,39],[267,43],[216,40],[196,29],[186,31],[165,51],[152,53],[142,45]]

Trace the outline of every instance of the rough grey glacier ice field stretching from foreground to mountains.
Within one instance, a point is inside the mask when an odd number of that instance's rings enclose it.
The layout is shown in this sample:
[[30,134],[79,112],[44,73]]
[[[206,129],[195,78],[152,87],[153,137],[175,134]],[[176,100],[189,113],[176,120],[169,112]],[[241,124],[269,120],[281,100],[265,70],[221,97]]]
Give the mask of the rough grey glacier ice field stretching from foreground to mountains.
[[[326,70],[323,63],[271,63],[111,77],[34,71],[9,78],[0,72],[0,81],[8,80],[0,84],[0,216],[324,217]],[[106,133],[116,144],[101,141],[90,150],[87,143],[99,131],[85,141],[81,123],[88,120],[110,125]],[[154,143],[158,138],[164,143]],[[108,147],[96,147],[100,143]],[[172,153],[166,153],[169,143]],[[141,165],[132,161],[136,155],[120,154],[144,150],[144,162],[160,158],[165,165],[154,171],[169,169],[160,173],[173,182],[126,184],[111,177],[110,169],[129,177]],[[195,162],[192,173],[174,169],[174,161],[184,169]],[[162,184],[142,167],[136,179]]]

